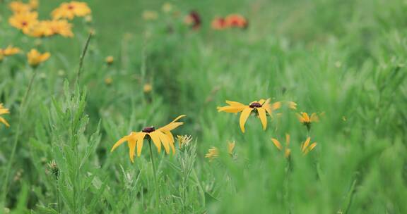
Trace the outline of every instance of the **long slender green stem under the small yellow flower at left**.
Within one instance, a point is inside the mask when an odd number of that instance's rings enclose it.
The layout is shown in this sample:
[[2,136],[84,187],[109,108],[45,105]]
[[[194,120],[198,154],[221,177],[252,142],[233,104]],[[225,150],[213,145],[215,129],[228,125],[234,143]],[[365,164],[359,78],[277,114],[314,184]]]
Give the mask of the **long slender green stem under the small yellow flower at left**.
[[6,168],[6,173],[5,173],[5,178],[3,181],[3,187],[2,193],[1,193],[1,200],[0,201],[5,201],[7,191],[8,191],[8,178],[10,177],[11,173],[11,165],[13,165],[13,160],[14,156],[16,156],[16,150],[18,146],[18,139],[20,138],[20,130],[21,130],[21,122],[24,118],[24,113],[25,113],[25,103],[28,99],[28,96],[31,92],[31,88],[33,87],[33,82],[35,80],[35,77],[37,76],[37,72],[35,72],[35,68],[33,68],[33,75],[31,76],[30,83],[28,83],[27,90],[25,91],[25,94],[23,96],[23,100],[21,101],[20,108],[18,109],[18,123],[17,123],[17,130],[16,130],[16,135],[14,138],[13,142],[13,149],[11,150],[11,155],[10,159],[8,160],[7,168]]

